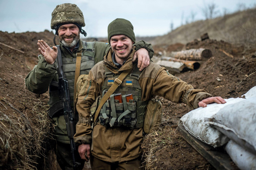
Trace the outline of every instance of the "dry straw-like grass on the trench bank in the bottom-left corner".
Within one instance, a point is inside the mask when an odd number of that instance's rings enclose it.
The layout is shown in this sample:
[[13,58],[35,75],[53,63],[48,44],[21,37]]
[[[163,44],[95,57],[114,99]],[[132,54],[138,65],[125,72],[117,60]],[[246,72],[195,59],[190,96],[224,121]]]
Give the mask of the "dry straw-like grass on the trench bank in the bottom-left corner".
[[47,118],[47,106],[39,99],[27,101],[34,104],[32,118],[17,114],[9,103],[6,109],[14,114],[7,116],[0,111],[0,169],[37,169],[36,162],[45,156],[43,141],[52,138],[53,127]]

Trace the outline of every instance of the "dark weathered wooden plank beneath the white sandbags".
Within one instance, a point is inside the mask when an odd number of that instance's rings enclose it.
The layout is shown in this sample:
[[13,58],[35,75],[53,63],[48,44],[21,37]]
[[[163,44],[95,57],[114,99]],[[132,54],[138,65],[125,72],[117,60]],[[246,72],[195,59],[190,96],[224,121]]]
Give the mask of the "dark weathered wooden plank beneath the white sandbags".
[[178,125],[178,133],[188,142],[199,154],[201,154],[217,170],[239,170],[232,162],[230,156],[223,148],[213,148],[192,136],[185,130],[183,125]]

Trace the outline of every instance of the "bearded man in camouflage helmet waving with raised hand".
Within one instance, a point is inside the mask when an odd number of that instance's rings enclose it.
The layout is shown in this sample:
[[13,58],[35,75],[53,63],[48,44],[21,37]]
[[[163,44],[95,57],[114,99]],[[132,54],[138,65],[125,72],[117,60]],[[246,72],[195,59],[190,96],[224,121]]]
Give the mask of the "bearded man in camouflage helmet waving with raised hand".
[[[55,29],[55,35],[60,38],[60,51],[56,46],[51,48],[45,41],[38,40],[39,62],[25,78],[26,87],[35,94],[43,94],[49,88],[48,104],[51,106],[50,114],[56,125],[56,156],[62,169],[73,169],[73,165],[71,163],[70,139],[67,136],[66,122],[63,109],[61,109],[63,106],[57,85],[57,54],[61,53],[62,56],[63,72],[68,80],[73,108],[76,56],[82,55],[80,74],[88,74],[96,63],[103,60],[106,52],[111,48],[105,42],[81,41],[80,33],[86,36],[86,32],[82,29],[84,26],[84,16],[77,5],[71,3],[57,5],[52,12],[51,28]],[[55,37],[54,44],[56,45]],[[149,57],[153,56],[152,46],[145,41],[136,42],[133,46],[137,50],[134,61],[138,58],[138,68],[142,70],[149,65]],[[75,121],[78,121],[78,114],[75,114]],[[83,169],[84,160],[78,153],[75,157],[76,161],[81,163],[77,169]]]

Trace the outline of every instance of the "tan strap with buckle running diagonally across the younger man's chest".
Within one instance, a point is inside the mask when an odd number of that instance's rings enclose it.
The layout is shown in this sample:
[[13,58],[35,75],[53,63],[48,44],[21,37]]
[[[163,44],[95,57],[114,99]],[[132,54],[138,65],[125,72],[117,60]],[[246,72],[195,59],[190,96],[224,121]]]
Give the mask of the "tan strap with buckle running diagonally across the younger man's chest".
[[132,68],[128,69],[128,70],[124,70],[119,76],[118,78],[115,79],[114,84],[108,89],[107,93],[102,97],[102,100],[100,101],[99,107],[96,110],[95,116],[94,116],[94,123],[96,122],[100,109],[102,108],[102,106],[104,105],[104,103],[107,101],[107,99],[110,97],[111,94],[113,94],[115,92],[115,90],[117,89],[118,86],[120,86],[120,84],[122,83],[122,81],[124,80],[124,78],[131,72]]

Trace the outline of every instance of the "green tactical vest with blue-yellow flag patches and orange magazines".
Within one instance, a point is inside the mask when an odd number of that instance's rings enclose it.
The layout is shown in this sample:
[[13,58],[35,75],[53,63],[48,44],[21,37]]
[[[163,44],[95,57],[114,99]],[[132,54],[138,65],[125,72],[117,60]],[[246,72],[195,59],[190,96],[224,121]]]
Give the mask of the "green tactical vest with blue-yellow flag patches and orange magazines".
[[[110,72],[105,67],[105,81],[102,94],[112,86],[119,74]],[[99,122],[107,127],[140,128],[143,126],[144,114],[148,101],[141,101],[141,87],[139,85],[140,71],[135,66],[134,72],[127,75],[115,92],[110,95],[99,113]],[[128,99],[127,96],[131,96]],[[102,97],[103,97],[102,96]],[[119,100],[116,99],[119,96]]]

